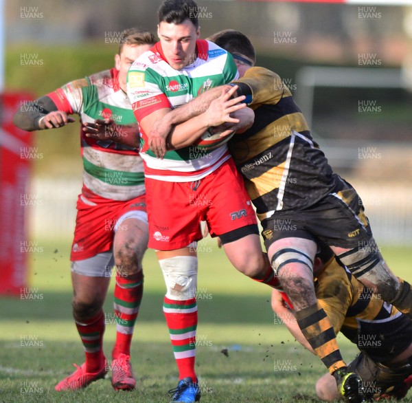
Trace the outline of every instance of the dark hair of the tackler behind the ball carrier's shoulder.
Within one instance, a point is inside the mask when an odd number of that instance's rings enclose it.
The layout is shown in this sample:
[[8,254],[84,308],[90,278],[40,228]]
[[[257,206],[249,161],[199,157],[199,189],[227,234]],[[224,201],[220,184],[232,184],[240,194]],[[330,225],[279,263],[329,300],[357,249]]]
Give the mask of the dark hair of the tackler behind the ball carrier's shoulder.
[[256,63],[256,53],[249,38],[236,30],[223,30],[209,36],[209,41],[227,50],[232,56],[246,56],[252,64]]

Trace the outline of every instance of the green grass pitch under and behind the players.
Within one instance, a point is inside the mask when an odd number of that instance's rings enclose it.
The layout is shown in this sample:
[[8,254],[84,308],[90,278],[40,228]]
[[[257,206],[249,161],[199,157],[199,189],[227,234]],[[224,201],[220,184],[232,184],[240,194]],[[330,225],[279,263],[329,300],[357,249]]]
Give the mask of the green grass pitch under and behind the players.
[[[132,346],[137,389],[116,393],[110,379],[76,393],[54,385],[84,360],[71,318],[70,241],[39,242],[31,258],[30,288],[36,300],[0,299],[0,402],[168,402],[177,369],[162,313],[163,277],[155,255],[146,253],[145,292]],[[202,402],[314,402],[314,382],[325,370],[275,320],[270,291],[238,274],[214,243],[200,254],[196,371]],[[411,249],[383,250],[389,265],[411,281]],[[114,283],[114,281],[112,281]],[[115,340],[113,284],[105,303],[104,351]],[[27,342],[27,340],[30,340]],[[339,337],[344,358],[356,347]],[[227,349],[228,355],[222,353]],[[277,367],[287,364],[287,369]],[[411,400],[405,400],[411,401]]]

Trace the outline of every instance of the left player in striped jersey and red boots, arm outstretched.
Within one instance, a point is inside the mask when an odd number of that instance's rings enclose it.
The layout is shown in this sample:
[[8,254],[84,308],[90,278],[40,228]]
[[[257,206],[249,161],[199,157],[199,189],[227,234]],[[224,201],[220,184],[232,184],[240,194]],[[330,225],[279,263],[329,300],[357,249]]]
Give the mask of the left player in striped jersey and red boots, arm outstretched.
[[[84,346],[85,362],[56,385],[75,390],[112,370],[116,390],[135,388],[130,343],[143,293],[141,261],[148,243],[143,162],[133,144],[139,127],[126,94],[131,63],[155,43],[148,31],[122,32],[115,67],[92,74],[38,98],[35,111],[20,110],[14,124],[27,131],[56,129],[80,116],[83,160],[82,193],[77,202],[71,248],[73,317]],[[115,320],[117,333],[111,365],[103,351],[106,316],[103,303],[116,265]],[[110,321],[109,321],[110,322]]]

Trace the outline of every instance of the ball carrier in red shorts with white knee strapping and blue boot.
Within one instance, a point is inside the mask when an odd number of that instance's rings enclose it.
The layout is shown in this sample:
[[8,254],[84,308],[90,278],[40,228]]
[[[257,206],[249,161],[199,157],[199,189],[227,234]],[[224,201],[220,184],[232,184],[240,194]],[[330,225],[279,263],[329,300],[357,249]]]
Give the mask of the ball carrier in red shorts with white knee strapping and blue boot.
[[[190,146],[191,142],[186,147],[182,143],[183,148],[168,151],[163,159],[157,159],[148,147],[147,134],[163,116],[198,94],[207,94],[209,88],[238,77],[233,58],[225,50],[198,39],[197,10],[192,0],[162,3],[160,41],[133,63],[127,84],[141,129],[148,246],[157,250],[165,277],[163,312],[179,369],[178,386],[171,391],[174,402],[195,402],[201,397],[194,369],[198,323],[196,241],[202,239],[201,221],[207,221],[212,236],[220,237],[238,270],[264,283],[273,279],[273,270],[262,254],[251,201],[227,145],[201,151]],[[230,120],[229,113],[227,118]],[[205,111],[174,131],[196,138],[224,121]]]

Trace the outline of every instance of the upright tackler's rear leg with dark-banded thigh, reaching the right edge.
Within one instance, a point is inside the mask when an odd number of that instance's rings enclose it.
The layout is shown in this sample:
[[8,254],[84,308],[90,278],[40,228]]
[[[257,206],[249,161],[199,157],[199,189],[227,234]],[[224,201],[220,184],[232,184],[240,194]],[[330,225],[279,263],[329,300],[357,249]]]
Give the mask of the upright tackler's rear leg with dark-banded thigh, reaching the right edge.
[[412,318],[411,285],[391,272],[373,238],[353,249],[331,248],[356,279]]

